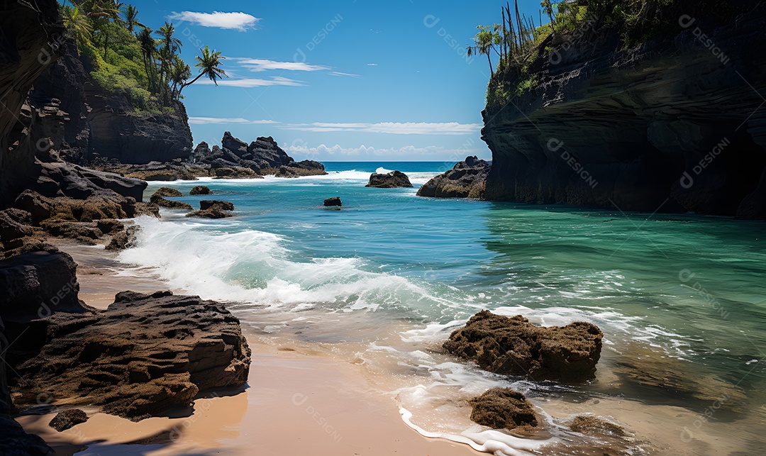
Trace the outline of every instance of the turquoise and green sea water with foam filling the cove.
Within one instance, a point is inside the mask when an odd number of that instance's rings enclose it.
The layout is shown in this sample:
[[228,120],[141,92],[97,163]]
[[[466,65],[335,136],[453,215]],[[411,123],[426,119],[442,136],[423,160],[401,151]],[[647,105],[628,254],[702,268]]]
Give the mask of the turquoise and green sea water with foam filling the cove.
[[[233,302],[261,333],[330,344],[364,363],[424,432],[502,454],[530,450],[538,444],[490,434],[464,416],[465,399],[512,385],[544,414],[558,410],[549,399],[626,399],[656,411],[650,416],[672,410],[660,439],[673,441],[651,442],[669,454],[759,454],[766,223],[417,198],[417,187],[451,164],[326,165],[329,176],[204,182],[213,198],[234,202],[238,217],[140,219],[139,246],[121,258],[172,287]],[[379,168],[408,173],[415,189],[366,189]],[[188,193],[199,183],[171,186]],[[332,196],[342,209],[322,207]],[[439,353],[450,331],[482,309],[545,325],[597,324],[605,334],[597,380],[502,379]],[[625,415],[618,408],[605,413]],[[550,427],[562,419],[548,417]],[[727,437],[723,447],[705,441]],[[545,442],[572,439],[561,430]]]

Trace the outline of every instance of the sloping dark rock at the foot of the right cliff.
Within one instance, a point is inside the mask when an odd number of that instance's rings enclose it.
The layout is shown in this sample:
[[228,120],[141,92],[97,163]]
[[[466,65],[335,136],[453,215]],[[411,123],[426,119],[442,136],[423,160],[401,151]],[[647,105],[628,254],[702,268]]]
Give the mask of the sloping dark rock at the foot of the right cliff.
[[483,199],[489,168],[489,162],[475,156],[466,157],[464,162],[458,162],[450,171],[426,182],[417,190],[417,195],[434,198]]

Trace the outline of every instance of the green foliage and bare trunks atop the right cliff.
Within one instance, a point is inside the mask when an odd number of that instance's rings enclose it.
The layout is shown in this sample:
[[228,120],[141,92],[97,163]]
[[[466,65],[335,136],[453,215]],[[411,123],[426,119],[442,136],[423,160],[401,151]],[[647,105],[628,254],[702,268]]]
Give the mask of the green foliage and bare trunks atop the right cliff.
[[[548,22],[536,25],[535,18],[519,15],[517,2],[502,6],[501,24],[479,26],[469,46],[469,51],[489,59],[489,111],[502,109],[514,98],[535,90],[542,78],[531,66],[536,64],[539,71],[540,59],[558,57],[562,44],[611,33],[619,37],[620,48],[630,48],[678,34],[681,15],[707,11],[724,19],[735,14],[726,0],[542,0],[538,21],[547,17]],[[497,57],[496,67],[493,56]]]

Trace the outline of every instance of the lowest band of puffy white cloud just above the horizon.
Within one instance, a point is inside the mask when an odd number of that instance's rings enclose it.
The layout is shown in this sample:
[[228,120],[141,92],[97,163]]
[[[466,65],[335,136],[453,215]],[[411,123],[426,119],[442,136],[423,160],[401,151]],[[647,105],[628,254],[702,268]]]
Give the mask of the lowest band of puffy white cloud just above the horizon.
[[361,156],[373,156],[373,157],[412,157],[412,156],[450,156],[450,159],[454,161],[462,160],[466,156],[476,155],[480,153],[479,149],[445,149],[441,146],[427,146],[427,147],[415,147],[404,146],[398,148],[388,149],[375,149],[375,147],[358,146],[358,147],[342,147],[336,144],[335,146],[326,146],[320,144],[316,147],[309,146],[283,146],[283,149],[292,156],[309,156],[309,157],[361,157]]

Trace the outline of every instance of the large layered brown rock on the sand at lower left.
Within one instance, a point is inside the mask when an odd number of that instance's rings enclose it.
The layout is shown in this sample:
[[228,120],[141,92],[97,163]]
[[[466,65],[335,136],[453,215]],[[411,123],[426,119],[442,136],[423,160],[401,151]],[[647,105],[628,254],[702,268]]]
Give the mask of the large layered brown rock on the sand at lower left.
[[40,352],[15,366],[18,406],[44,394],[52,405],[95,405],[139,419],[247,382],[247,340],[220,303],[126,291],[106,311],[56,313],[43,323]]

